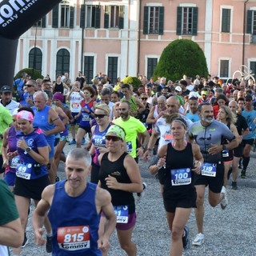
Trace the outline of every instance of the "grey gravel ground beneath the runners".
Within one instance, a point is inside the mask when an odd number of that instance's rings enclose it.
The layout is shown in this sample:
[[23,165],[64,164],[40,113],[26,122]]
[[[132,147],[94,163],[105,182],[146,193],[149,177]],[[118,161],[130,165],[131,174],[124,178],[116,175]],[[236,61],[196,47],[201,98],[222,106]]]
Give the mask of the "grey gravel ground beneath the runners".
[[[66,151],[70,150],[67,146]],[[255,157],[255,154],[252,154]],[[143,180],[147,183],[145,197],[137,204],[138,221],[134,230],[133,241],[138,246],[138,256],[164,256],[169,255],[170,231],[166,223],[166,216],[159,194],[158,181],[148,174],[146,164],[140,162]],[[254,256],[255,246],[255,198],[256,198],[256,159],[251,158],[246,180],[238,179],[238,190],[228,188],[229,205],[226,210],[220,206],[212,208],[206,202],[204,233],[206,242],[201,247],[191,246],[184,255],[189,256]],[[59,176],[64,178],[64,165],[58,170]],[[207,194],[206,194],[207,199]],[[59,216],[61,218],[61,216]],[[197,233],[194,212],[188,222],[190,239]],[[22,250],[22,255],[44,256],[43,247],[34,244],[34,234],[31,222],[27,226],[29,243]],[[117,242],[116,234],[111,238],[110,256],[125,255]]]

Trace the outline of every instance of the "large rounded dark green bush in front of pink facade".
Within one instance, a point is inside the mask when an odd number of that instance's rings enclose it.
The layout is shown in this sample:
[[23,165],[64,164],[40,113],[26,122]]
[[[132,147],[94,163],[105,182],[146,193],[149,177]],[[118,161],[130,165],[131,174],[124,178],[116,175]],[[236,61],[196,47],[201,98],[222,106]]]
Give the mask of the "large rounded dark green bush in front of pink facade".
[[177,39],[162,51],[154,70],[154,78],[165,77],[167,81],[176,81],[182,79],[183,74],[191,78],[199,74],[206,78],[209,73],[200,46],[188,39]]

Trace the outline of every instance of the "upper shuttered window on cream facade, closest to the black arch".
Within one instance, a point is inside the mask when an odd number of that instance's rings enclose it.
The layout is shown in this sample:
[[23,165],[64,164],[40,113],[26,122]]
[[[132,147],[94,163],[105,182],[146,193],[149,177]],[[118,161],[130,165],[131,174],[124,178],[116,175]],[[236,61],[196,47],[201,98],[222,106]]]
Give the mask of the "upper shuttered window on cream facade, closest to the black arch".
[[69,1],[62,1],[53,9],[53,27],[74,28],[74,6]]

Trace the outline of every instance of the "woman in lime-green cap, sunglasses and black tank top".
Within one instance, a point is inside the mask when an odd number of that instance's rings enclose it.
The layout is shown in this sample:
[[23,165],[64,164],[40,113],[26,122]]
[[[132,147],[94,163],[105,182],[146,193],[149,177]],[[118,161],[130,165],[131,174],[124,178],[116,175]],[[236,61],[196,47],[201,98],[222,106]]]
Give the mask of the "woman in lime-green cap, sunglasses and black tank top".
[[[135,255],[136,245],[131,241],[136,214],[133,193],[142,193],[142,178],[134,158],[127,154],[124,143],[125,132],[119,126],[110,126],[106,132],[106,148],[109,152],[100,154],[98,162],[99,186],[110,192],[117,215],[118,240],[128,255]],[[104,229],[106,218],[102,216],[99,230]],[[106,255],[103,252],[102,255]]]

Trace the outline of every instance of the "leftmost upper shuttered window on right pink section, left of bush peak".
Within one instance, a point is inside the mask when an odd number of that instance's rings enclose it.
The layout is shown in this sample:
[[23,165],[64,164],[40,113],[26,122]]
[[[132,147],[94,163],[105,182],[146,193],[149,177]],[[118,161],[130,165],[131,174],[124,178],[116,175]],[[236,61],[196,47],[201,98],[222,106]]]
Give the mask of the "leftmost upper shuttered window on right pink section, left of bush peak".
[[163,34],[164,8],[144,6],[143,34]]

